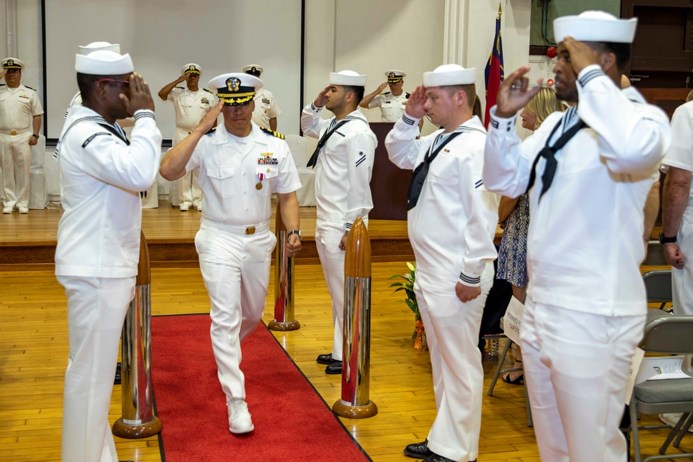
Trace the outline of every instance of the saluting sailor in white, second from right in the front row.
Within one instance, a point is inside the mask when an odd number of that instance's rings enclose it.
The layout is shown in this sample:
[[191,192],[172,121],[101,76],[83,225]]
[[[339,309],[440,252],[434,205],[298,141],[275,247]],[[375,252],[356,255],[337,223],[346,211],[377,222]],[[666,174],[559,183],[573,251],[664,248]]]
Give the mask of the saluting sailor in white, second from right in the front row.
[[[475,69],[457,64],[424,73],[385,139],[392,163],[414,170],[407,226],[438,412],[426,441],[404,453],[426,462],[474,461],[479,453],[484,371],[477,343],[493,285],[498,196],[481,179],[486,130],[473,116],[475,80]],[[441,130],[416,140],[426,115]]]

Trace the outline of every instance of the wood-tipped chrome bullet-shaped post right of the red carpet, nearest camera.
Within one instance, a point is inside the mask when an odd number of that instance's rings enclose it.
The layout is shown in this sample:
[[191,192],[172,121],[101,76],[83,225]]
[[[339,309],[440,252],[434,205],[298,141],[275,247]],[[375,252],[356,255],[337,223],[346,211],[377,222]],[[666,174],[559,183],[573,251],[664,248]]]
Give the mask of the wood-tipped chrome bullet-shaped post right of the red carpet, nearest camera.
[[344,260],[344,361],[342,399],[337,416],[367,418],[378,414],[369,399],[371,366],[371,241],[360,218],[351,226]]

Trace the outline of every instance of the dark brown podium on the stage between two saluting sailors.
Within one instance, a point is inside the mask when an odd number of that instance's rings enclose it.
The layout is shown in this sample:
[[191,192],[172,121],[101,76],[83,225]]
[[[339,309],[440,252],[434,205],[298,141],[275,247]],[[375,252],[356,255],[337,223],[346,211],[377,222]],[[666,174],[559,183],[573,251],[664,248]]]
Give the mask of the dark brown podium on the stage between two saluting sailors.
[[376,158],[371,175],[373,210],[369,220],[407,220],[407,190],[412,170],[403,170],[390,162],[385,149],[385,136],[392,130],[392,122],[371,122],[371,130],[378,138]]

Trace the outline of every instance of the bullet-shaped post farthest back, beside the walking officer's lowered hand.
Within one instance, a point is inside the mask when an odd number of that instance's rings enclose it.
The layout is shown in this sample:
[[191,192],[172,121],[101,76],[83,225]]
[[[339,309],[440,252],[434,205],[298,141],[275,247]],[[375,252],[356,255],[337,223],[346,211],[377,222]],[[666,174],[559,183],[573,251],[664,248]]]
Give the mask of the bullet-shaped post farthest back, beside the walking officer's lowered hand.
[[286,254],[288,233],[277,204],[274,218],[277,233],[277,252],[274,254],[274,319],[267,324],[270,330],[297,330],[294,319],[294,258]]

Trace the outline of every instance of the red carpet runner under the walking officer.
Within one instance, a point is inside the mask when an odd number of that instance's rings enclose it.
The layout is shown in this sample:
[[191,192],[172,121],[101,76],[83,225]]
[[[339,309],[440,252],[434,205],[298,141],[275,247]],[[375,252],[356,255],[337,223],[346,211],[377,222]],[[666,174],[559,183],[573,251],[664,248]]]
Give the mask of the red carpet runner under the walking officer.
[[255,430],[229,432],[209,315],[152,317],[152,380],[166,462],[370,461],[263,324],[243,342]]

